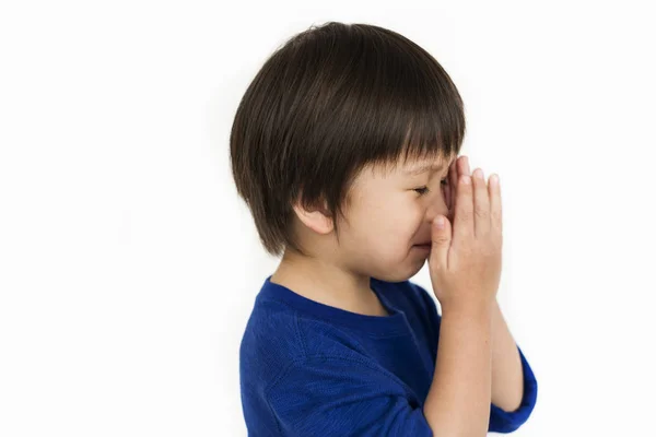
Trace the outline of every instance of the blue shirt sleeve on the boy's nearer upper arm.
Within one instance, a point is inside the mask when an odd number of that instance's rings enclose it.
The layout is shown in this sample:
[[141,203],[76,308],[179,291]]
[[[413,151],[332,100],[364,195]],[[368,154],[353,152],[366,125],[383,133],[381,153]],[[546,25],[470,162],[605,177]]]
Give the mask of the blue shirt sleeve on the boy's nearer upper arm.
[[265,392],[282,436],[433,436],[406,394],[390,374],[327,356],[290,364]]

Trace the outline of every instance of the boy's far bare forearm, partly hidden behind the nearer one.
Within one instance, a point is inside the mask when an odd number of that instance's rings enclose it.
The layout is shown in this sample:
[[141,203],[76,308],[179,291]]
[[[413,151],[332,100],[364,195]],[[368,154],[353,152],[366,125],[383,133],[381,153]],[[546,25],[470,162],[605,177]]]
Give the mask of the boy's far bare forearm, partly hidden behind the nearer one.
[[492,306],[492,403],[513,412],[522,404],[523,393],[519,351],[495,299]]

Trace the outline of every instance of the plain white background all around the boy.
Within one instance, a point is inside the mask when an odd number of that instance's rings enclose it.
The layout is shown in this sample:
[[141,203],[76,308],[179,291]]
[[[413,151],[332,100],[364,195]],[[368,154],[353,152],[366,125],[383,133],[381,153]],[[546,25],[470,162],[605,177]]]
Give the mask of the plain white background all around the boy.
[[647,3],[3,1],[0,435],[246,435],[238,347],[278,260],[229,134],[265,59],[326,21],[429,50],[471,169],[501,177],[499,300],[539,383],[514,434],[653,432]]

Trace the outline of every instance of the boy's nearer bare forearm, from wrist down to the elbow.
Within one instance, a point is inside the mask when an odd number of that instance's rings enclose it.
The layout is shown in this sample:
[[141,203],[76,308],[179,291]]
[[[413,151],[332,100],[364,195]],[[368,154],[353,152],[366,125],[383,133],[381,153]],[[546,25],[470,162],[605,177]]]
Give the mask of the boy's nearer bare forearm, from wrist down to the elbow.
[[437,436],[488,434],[492,308],[443,307],[433,382],[423,412]]

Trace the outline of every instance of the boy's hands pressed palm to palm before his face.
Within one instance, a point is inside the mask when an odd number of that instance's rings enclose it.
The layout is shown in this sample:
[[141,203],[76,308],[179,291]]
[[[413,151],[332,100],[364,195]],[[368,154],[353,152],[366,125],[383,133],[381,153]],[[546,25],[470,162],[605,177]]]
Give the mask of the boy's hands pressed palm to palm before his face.
[[435,223],[431,227],[429,268],[433,292],[443,309],[487,307],[494,303],[499,288],[501,189],[499,184],[488,186],[482,170],[477,170],[482,178],[471,177],[467,156],[454,162],[446,190],[449,214],[442,229]]

